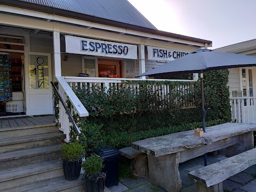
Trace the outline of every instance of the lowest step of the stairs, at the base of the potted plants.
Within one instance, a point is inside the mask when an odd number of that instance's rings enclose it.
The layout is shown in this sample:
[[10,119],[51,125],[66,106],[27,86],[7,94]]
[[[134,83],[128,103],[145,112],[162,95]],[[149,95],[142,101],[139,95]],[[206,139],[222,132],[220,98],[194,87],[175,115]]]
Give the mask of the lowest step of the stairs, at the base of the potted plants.
[[85,191],[82,184],[82,175],[75,181],[67,181],[65,177],[58,177],[40,182],[32,183],[30,185],[23,185],[5,190],[5,192],[57,192],[57,191]]

